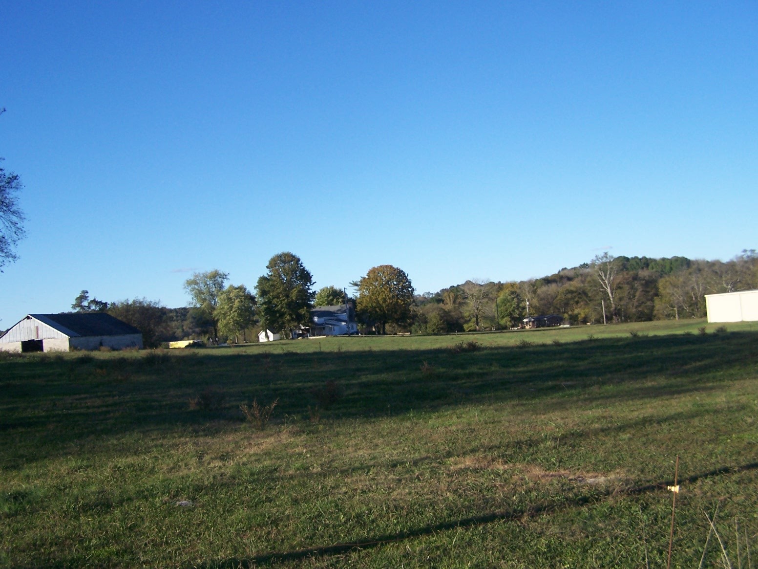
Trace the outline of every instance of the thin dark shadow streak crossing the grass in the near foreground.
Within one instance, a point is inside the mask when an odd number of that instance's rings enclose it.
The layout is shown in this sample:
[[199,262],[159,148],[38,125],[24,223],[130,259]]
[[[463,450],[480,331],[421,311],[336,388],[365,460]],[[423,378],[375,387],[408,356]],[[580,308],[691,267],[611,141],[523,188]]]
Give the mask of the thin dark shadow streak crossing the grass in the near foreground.
[[[713,476],[723,476],[726,474],[741,473],[748,470],[758,470],[758,462],[743,464],[739,467],[716,468],[705,473],[689,476],[688,478],[681,479],[678,482],[695,483],[700,479],[711,478]],[[493,523],[496,521],[523,520],[525,517],[537,517],[541,514],[553,514],[558,511],[570,510],[572,508],[581,508],[584,505],[590,505],[602,501],[603,499],[608,498],[610,495],[620,497],[624,495],[641,495],[647,492],[656,492],[659,490],[666,491],[666,486],[670,486],[673,483],[673,480],[666,480],[664,482],[647,484],[644,486],[632,486],[631,488],[622,489],[620,491],[616,489],[612,492],[607,491],[593,496],[580,496],[574,501],[562,501],[560,504],[542,504],[535,505],[526,509],[490,512],[487,514],[482,514],[481,516],[464,517],[459,520],[436,523],[434,525],[419,527],[415,530],[409,530],[406,532],[359,539],[354,542],[335,543],[334,545],[323,545],[306,549],[297,549],[291,552],[272,552],[265,555],[257,555],[249,559],[233,558],[226,559],[224,561],[211,561],[206,564],[199,565],[199,567],[206,567],[207,569],[211,569],[211,567],[215,567],[217,569],[224,569],[226,567],[257,567],[259,564],[271,565],[282,561],[299,561],[312,557],[340,555],[353,552],[358,549],[373,549],[381,545],[404,542],[409,539],[429,536],[434,533],[447,530],[483,526],[487,523]],[[198,565],[193,565],[193,567],[198,567]]]

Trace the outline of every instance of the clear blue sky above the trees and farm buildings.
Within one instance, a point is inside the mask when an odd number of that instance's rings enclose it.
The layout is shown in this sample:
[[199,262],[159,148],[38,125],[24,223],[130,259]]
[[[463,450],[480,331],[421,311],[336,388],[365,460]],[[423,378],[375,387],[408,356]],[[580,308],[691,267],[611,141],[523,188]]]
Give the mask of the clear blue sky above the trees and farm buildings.
[[2,2],[28,237],[0,328],[101,300],[418,292],[758,247],[756,2]]

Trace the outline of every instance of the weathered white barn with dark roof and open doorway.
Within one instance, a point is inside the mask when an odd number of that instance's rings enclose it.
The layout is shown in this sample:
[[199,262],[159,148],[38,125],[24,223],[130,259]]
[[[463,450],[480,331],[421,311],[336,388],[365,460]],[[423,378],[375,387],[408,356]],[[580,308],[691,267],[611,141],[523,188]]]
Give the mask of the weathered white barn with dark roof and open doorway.
[[29,314],[0,336],[0,351],[50,352],[143,347],[142,333],[106,313]]

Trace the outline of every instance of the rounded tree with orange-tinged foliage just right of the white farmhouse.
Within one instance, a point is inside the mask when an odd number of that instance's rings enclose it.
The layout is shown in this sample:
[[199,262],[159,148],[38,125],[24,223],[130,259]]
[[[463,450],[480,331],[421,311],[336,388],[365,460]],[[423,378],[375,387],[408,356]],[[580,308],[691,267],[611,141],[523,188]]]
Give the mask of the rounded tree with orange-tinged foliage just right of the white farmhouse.
[[358,287],[358,312],[380,325],[384,334],[387,322],[402,324],[411,316],[413,285],[408,275],[392,265],[369,270]]

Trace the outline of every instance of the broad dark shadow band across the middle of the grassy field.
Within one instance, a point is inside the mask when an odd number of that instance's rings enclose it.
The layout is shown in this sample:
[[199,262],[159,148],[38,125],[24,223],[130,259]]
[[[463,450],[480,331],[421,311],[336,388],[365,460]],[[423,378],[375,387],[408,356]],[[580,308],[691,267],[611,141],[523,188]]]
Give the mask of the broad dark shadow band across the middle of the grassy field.
[[[706,391],[752,373],[756,332],[607,338],[490,347],[287,354],[105,354],[0,361],[0,465],[74,452],[88,437],[241,423],[238,405],[279,398],[277,414],[308,417],[309,391],[334,381],[343,398],[324,419],[391,417],[468,404],[543,410]],[[432,366],[424,373],[424,363]],[[221,391],[219,410],[189,399]]]

